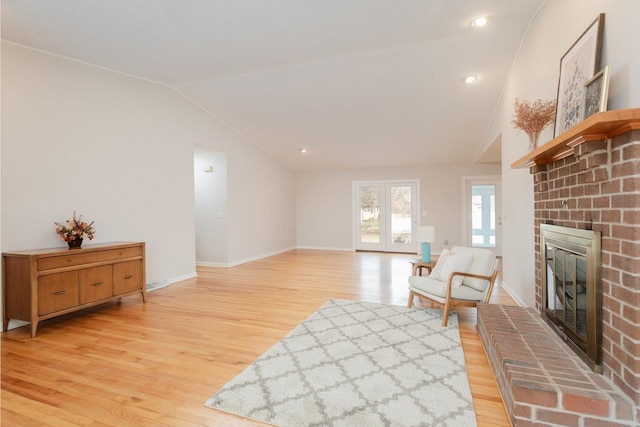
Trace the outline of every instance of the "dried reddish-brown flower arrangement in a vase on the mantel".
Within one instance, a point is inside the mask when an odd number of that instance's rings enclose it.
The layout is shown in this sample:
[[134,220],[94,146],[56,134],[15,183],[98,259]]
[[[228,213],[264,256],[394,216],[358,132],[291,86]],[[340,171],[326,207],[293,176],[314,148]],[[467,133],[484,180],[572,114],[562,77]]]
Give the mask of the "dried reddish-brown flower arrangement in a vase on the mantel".
[[556,101],[538,99],[531,103],[516,98],[513,106],[516,114],[513,116],[511,124],[514,128],[521,129],[529,135],[529,151],[535,150],[538,146],[540,132],[555,120]]

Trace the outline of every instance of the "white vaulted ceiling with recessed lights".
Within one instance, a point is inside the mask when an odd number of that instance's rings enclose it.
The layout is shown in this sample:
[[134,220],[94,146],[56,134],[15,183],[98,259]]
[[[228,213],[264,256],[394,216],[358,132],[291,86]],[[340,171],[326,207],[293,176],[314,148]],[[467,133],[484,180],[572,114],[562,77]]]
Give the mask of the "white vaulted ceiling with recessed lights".
[[171,86],[296,170],[499,161],[482,142],[542,3],[3,0],[2,39]]

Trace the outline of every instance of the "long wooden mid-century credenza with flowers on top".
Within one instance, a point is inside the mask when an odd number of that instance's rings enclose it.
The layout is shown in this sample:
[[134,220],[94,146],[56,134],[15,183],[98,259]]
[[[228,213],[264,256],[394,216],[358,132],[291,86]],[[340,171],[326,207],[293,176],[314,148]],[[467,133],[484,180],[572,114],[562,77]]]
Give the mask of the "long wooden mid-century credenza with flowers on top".
[[146,300],[144,242],[84,245],[2,254],[2,330],[9,320],[38,322],[142,294]]

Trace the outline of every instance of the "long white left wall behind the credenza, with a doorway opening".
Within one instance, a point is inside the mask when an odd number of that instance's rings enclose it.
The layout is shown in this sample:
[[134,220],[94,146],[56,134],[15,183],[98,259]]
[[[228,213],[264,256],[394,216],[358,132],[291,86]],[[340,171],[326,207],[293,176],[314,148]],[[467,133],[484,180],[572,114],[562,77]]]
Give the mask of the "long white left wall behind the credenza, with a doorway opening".
[[167,86],[3,42],[2,132],[4,251],[64,245],[75,209],[147,242],[148,282],[193,275],[195,145],[227,156],[227,262],[294,245],[293,172]]

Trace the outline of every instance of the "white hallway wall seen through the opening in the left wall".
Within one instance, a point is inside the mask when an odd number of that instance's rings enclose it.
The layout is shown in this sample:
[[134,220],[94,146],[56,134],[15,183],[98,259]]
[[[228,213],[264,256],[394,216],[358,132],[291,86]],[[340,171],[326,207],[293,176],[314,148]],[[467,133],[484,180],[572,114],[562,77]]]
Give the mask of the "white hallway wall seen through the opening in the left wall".
[[196,152],[193,172],[196,262],[201,265],[226,265],[227,155],[218,152]]

